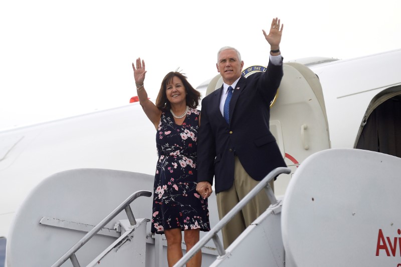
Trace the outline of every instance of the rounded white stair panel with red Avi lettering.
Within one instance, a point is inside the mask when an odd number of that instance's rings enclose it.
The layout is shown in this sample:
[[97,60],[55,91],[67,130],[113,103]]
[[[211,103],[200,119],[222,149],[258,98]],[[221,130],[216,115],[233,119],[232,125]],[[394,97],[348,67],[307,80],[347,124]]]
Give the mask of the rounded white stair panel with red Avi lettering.
[[286,266],[401,266],[401,158],[359,149],[308,157],[282,211]]

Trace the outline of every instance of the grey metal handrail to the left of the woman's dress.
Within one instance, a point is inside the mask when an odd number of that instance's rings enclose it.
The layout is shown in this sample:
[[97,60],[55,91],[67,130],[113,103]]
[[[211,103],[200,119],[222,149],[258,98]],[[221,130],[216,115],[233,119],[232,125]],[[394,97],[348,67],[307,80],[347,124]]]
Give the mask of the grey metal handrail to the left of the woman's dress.
[[80,267],[81,265],[78,262],[77,256],[75,252],[78,251],[89,239],[92,238],[98,231],[100,231],[107,223],[111,221],[112,218],[117,216],[123,209],[125,209],[125,213],[127,214],[128,220],[130,224],[133,226],[136,224],[136,220],[134,214],[132,213],[131,207],[129,204],[134,201],[137,197],[147,196],[150,197],[152,192],[150,191],[136,191],[132,195],[130,195],[127,199],[125,199],[118,207],[116,207],[109,215],[107,215],[101,222],[99,222],[92,230],[90,230],[84,237],[81,238],[73,247],[71,247],[63,256],[61,256],[52,267],[60,267],[64,262],[66,262],[69,258],[74,267]]

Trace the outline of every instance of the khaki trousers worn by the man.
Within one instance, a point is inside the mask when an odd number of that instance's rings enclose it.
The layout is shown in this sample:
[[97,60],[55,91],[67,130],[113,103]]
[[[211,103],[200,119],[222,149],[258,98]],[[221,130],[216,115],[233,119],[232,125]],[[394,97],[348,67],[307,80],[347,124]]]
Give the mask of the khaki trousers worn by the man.
[[[234,183],[226,191],[216,195],[219,218],[222,219],[243,199],[259,181],[254,180],[245,171],[238,157],[235,157]],[[274,182],[270,181],[274,191]],[[222,229],[223,244],[226,249],[257,217],[269,207],[270,201],[266,191],[262,189],[248,204],[238,212]]]

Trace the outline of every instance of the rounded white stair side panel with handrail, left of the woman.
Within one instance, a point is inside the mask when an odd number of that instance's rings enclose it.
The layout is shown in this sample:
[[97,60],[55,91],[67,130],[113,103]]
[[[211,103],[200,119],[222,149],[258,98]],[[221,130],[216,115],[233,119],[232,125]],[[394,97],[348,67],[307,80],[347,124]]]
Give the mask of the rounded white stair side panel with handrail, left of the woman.
[[[16,213],[7,266],[167,266],[164,235],[150,234],[147,223],[152,197],[143,189],[151,190],[153,180],[108,169],[74,169],[46,178]],[[210,201],[211,213],[217,214],[216,199]],[[184,243],[182,248],[185,252]],[[210,242],[202,251],[208,266],[216,247]]]

